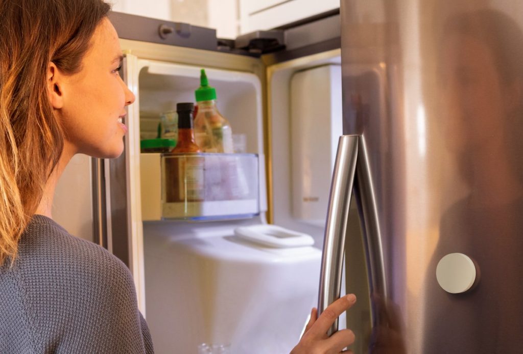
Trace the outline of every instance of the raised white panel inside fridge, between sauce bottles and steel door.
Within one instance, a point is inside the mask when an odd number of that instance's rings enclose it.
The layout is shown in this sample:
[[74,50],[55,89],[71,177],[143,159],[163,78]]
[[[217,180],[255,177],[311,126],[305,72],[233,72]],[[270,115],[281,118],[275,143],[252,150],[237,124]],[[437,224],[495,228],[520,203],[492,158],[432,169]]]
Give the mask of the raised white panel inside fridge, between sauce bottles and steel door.
[[324,65],[291,79],[292,210],[325,226],[331,175],[342,124],[342,70]]

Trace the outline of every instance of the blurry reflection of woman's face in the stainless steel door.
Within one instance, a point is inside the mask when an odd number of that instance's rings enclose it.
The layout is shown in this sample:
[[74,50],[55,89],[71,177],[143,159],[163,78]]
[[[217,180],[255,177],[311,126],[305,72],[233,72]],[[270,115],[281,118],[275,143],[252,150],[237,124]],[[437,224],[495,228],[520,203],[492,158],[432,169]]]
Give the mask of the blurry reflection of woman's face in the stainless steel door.
[[442,54],[442,123],[451,150],[492,151],[503,139],[508,110],[492,53],[473,36],[457,34]]

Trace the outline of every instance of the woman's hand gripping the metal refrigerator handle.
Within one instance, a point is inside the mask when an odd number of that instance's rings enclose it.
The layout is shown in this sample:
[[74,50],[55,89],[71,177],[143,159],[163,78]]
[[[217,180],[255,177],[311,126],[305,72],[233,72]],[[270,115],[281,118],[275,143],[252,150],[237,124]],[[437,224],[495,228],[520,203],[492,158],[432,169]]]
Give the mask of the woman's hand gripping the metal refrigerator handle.
[[354,294],[346,295],[331,303],[318,319],[317,310],[312,309],[311,319],[305,327],[305,333],[300,343],[292,349],[291,354],[338,354],[352,353],[342,351],[354,343],[354,333],[350,329],[342,329],[327,337],[327,331],[340,314],[347,311],[356,302]]

